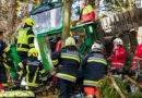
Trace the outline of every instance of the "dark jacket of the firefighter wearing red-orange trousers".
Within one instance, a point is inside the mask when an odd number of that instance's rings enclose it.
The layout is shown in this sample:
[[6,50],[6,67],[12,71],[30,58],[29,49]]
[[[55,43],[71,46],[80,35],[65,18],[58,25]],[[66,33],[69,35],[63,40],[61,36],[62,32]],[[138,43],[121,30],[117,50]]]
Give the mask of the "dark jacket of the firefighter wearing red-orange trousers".
[[92,51],[83,60],[82,68],[85,71],[83,85],[95,87],[105,75],[107,62],[99,51]]

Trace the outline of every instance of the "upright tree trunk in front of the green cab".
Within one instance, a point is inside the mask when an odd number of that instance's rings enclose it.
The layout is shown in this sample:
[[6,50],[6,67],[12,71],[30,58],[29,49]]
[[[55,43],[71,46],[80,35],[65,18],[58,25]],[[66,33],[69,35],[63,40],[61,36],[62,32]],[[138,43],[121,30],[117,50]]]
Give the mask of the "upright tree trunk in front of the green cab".
[[70,36],[70,16],[71,16],[71,5],[72,0],[63,0],[63,27],[62,27],[62,44],[64,47],[64,40]]

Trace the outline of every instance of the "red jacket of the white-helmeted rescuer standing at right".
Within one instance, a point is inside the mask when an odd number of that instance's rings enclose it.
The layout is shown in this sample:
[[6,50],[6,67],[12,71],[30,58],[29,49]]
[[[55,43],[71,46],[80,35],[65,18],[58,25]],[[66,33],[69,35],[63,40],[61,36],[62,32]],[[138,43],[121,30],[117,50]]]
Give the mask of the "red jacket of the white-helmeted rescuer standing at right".
[[113,61],[111,61],[111,70],[115,70],[117,68],[121,68],[125,65],[126,62],[126,50],[123,49],[123,47],[120,47],[119,49],[115,49],[111,52]]

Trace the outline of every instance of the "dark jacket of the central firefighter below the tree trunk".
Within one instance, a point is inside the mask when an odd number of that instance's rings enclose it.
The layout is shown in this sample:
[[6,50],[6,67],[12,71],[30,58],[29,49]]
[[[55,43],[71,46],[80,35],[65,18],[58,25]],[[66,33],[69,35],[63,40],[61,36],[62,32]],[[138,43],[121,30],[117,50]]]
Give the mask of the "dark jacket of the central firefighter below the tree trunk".
[[59,78],[75,82],[80,65],[80,56],[74,46],[68,46],[51,54],[55,66],[62,65],[56,74]]

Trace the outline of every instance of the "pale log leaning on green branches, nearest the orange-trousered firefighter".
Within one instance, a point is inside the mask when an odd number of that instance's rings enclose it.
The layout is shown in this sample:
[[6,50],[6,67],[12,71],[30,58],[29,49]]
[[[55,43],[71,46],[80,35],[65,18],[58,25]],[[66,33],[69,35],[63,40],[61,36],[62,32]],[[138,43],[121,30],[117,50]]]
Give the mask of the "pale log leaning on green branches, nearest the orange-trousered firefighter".
[[116,91],[121,96],[121,98],[126,98],[126,96],[122,94],[122,91],[120,90],[120,88],[116,84],[114,75],[111,73],[108,73],[108,77],[110,78],[113,86],[115,87]]

